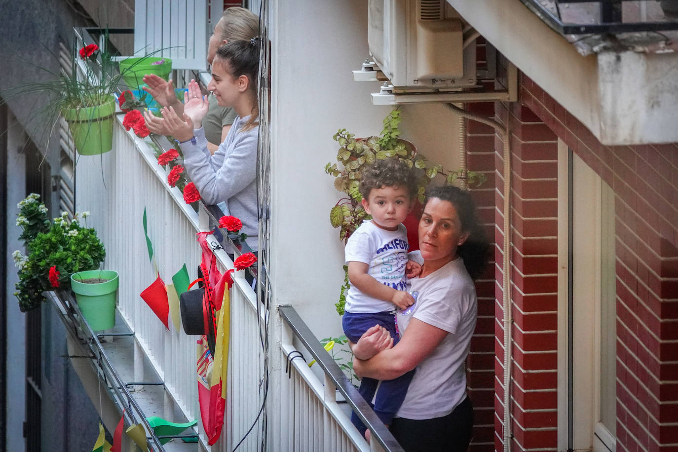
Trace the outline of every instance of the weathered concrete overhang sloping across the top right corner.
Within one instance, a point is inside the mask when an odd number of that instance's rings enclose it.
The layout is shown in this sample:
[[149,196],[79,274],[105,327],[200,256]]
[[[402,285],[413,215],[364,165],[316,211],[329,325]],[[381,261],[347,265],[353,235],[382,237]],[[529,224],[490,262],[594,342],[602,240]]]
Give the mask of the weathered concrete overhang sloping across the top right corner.
[[678,54],[582,56],[520,0],[447,0],[606,145],[678,142]]

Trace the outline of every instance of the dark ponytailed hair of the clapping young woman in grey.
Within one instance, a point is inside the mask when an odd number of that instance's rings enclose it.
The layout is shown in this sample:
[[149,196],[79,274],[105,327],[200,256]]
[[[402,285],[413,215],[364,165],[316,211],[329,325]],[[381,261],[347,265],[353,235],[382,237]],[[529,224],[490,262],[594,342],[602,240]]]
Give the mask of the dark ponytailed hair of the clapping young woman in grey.
[[243,130],[249,130],[259,124],[259,103],[257,102],[257,77],[259,73],[259,39],[252,38],[247,41],[237,39],[219,47],[216,51],[216,57],[220,64],[224,65],[226,72],[237,78],[241,75],[247,76],[249,84],[247,91],[250,91],[254,98],[254,106],[250,113],[250,119],[245,123]]

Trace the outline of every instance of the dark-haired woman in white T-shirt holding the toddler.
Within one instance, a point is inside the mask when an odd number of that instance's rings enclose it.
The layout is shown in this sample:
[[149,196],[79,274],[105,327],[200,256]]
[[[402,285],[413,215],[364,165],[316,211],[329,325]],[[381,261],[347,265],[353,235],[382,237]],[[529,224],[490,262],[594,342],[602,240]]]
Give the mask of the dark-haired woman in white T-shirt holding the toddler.
[[473,408],[466,396],[464,359],[475,329],[473,279],[487,264],[489,246],[471,195],[453,186],[431,189],[419,222],[422,264],[407,291],[416,304],[396,314],[401,335],[374,325],[353,346],[357,375],[391,380],[416,369],[390,429],[406,451],[466,451]]

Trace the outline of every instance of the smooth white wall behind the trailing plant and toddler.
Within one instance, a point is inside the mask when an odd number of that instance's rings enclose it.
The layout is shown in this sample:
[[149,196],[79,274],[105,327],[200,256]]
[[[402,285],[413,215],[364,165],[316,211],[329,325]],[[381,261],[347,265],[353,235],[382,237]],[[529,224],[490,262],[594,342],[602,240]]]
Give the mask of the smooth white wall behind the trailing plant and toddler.
[[[276,304],[292,304],[319,338],[342,334],[338,299],[344,246],[330,226],[340,199],[323,171],[336,161],[337,129],[376,135],[391,108],[373,106],[379,83],[357,83],[367,49],[367,2],[271,2],[271,277]],[[401,130],[420,152],[456,167],[454,116],[406,106]],[[453,159],[455,161],[453,161]]]

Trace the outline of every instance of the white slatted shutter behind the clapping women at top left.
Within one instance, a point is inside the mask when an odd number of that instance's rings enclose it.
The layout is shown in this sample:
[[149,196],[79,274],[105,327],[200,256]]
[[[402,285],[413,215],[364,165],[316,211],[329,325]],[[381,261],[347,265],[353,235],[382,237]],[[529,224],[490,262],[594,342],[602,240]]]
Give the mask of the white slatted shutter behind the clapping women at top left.
[[207,69],[208,0],[136,0],[134,55],[172,58],[172,69]]

